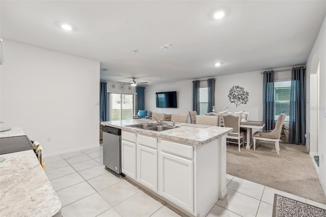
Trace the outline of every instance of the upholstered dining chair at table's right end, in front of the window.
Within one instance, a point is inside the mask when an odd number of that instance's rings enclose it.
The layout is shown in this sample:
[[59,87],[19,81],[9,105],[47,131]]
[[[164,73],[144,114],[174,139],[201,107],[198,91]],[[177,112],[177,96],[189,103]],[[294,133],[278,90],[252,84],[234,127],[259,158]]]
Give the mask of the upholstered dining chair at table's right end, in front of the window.
[[[283,122],[285,120],[286,115],[285,114],[280,114],[275,127],[273,130],[268,130],[268,131],[258,131],[255,132],[253,135],[254,139],[254,150],[256,150],[256,140],[263,140],[263,141],[270,141],[275,143],[275,149],[278,154],[280,154],[280,138],[281,138],[281,131],[282,131],[282,126]],[[258,146],[258,141],[257,141],[257,146]]]

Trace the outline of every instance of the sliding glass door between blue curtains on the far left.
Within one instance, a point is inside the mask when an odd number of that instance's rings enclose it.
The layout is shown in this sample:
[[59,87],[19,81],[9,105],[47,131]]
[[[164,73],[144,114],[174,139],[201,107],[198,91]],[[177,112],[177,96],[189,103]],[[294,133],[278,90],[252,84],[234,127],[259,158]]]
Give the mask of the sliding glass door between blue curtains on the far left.
[[132,119],[134,115],[134,95],[133,94],[108,94],[109,120],[119,121]]

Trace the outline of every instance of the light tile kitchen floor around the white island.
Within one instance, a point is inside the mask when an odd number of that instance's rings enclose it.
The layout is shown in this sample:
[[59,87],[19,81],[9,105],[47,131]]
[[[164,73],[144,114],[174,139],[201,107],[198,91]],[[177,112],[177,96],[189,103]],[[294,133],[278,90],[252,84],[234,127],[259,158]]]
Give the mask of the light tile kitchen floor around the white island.
[[[103,148],[46,158],[45,173],[69,216],[180,216],[102,166]],[[227,174],[228,194],[207,216],[271,216],[274,194],[326,209],[325,204]],[[180,213],[182,214],[182,213]]]

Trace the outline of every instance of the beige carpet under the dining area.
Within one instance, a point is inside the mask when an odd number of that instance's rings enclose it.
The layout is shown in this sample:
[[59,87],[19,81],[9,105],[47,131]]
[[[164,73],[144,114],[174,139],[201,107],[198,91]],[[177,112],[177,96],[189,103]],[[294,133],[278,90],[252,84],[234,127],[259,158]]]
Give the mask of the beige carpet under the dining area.
[[228,174],[326,204],[326,197],[306,147],[280,143],[259,143],[256,150],[227,145]]

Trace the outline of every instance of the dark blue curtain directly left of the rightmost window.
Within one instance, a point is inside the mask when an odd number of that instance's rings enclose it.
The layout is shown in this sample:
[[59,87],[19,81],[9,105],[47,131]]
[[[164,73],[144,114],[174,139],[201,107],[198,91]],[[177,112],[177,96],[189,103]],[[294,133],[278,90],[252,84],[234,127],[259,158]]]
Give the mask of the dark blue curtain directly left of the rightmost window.
[[274,71],[264,71],[263,79],[263,121],[264,130],[274,129]]

